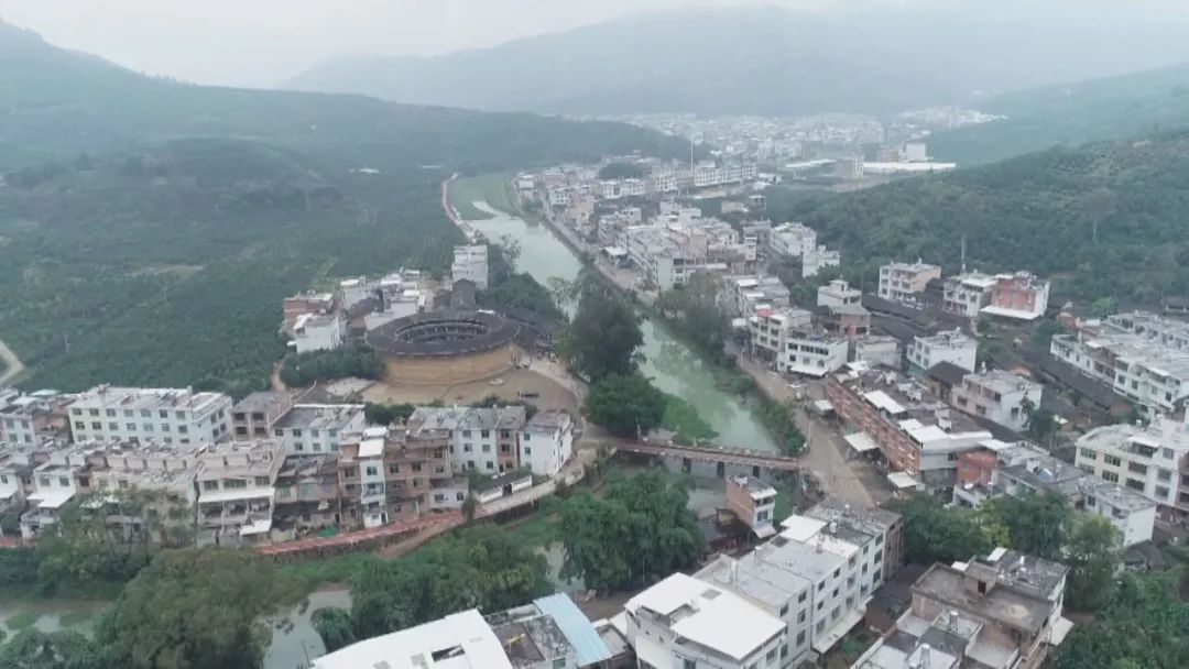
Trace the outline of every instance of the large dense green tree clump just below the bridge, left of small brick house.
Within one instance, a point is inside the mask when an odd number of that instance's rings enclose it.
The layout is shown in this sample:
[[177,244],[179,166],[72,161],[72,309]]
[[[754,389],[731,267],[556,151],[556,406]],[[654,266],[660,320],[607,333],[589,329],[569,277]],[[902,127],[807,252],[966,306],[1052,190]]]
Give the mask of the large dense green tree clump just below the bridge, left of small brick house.
[[703,538],[688,499],[684,485],[655,471],[610,479],[602,499],[578,492],[561,511],[562,575],[614,591],[690,566],[702,555]]

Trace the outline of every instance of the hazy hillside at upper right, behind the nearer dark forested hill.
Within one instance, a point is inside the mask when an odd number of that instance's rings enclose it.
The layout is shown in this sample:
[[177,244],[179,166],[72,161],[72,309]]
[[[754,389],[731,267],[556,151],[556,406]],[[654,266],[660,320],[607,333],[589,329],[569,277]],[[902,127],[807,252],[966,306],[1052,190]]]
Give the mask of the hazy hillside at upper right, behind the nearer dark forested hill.
[[930,153],[970,165],[1189,126],[1189,64],[1008,93],[979,108],[1007,118],[937,133]]

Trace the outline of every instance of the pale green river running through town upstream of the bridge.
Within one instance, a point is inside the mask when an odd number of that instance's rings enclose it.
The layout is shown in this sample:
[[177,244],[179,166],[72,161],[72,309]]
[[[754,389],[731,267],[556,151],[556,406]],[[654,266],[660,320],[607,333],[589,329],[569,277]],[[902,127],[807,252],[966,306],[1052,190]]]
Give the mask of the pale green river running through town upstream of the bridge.
[[[507,235],[520,242],[517,269],[527,271],[541,284],[560,277],[574,280],[583,264],[568,246],[562,244],[546,225],[529,223],[476,202],[476,208],[492,217],[467,221],[476,231],[496,241]],[[642,371],[665,392],[675,395],[698,410],[706,423],[718,433],[715,443],[776,452],[776,444],[760,422],[755,411],[736,395],[715,386],[715,377],[702,358],[673,336],[668,328],[648,320],[641,326],[644,335]]]

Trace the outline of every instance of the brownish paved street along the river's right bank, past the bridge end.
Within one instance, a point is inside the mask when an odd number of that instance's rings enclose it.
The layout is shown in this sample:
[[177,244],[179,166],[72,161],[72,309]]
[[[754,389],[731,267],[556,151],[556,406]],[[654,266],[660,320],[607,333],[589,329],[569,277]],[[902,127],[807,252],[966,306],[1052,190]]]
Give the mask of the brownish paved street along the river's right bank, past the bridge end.
[[[778,400],[794,399],[794,391],[780,375],[770,372],[746,355],[740,367],[751,375],[768,397]],[[822,399],[820,383],[807,384],[810,399]],[[847,460],[847,442],[826,423],[800,410],[797,427],[809,438],[809,452],[801,456],[806,467],[817,474],[826,494],[855,505],[870,506],[891,497],[891,491],[879,472],[866,461]]]

